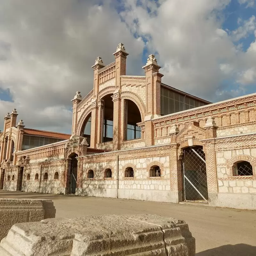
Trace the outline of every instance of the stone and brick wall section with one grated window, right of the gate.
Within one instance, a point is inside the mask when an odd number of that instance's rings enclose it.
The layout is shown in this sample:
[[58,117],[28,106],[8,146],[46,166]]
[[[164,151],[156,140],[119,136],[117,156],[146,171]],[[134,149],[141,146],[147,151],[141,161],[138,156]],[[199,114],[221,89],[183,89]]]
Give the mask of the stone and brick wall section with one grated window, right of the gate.
[[[256,139],[255,135],[240,135],[216,140],[218,175],[218,206],[256,208]],[[234,165],[247,161],[252,176],[236,176]]]

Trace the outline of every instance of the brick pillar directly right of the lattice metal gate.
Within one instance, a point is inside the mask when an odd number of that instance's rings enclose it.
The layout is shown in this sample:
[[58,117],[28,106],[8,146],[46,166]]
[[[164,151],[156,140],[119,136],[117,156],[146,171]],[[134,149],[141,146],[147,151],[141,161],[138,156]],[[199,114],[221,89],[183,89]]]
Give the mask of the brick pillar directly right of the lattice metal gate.
[[217,179],[217,165],[216,165],[216,151],[215,140],[204,140],[203,146],[206,162],[206,175],[209,205],[216,205],[218,194],[218,179]]

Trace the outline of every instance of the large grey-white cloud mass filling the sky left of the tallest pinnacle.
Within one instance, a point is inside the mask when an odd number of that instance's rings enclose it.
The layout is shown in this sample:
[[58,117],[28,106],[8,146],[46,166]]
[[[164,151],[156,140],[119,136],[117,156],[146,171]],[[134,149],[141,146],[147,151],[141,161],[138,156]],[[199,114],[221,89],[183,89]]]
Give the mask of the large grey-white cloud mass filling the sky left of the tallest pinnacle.
[[128,73],[142,67],[144,43],[110,2],[1,1],[0,84],[14,102],[0,101],[0,117],[15,107],[27,127],[70,131],[70,100],[78,90],[84,96],[91,91],[97,56],[113,62],[122,42],[130,53],[127,63],[132,62]]

